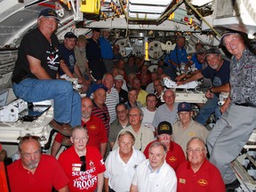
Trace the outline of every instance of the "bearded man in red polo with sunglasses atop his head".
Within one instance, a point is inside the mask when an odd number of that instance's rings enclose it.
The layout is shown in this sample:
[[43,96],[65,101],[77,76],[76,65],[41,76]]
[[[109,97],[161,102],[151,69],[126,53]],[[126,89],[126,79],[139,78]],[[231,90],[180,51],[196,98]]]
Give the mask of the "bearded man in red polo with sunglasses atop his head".
[[7,166],[12,192],[68,192],[68,177],[55,157],[41,154],[38,137],[21,138],[19,152],[20,159]]

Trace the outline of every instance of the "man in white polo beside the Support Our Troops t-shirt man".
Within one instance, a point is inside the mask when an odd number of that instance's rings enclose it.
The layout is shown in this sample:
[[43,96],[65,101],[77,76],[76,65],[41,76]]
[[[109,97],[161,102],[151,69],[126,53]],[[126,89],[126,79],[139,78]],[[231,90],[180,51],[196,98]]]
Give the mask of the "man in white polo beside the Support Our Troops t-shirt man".
[[136,167],[145,159],[133,148],[135,138],[131,132],[122,132],[117,140],[119,148],[110,152],[106,160],[105,192],[129,191]]

